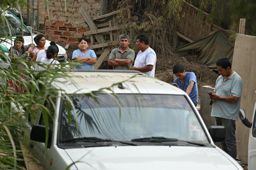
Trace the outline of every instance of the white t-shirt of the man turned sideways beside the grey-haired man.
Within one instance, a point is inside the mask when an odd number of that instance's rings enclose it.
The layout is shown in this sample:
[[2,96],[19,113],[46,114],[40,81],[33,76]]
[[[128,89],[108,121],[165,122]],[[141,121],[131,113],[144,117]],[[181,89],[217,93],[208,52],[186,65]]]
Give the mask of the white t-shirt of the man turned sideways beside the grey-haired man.
[[150,47],[148,47],[144,52],[141,52],[140,50],[134,61],[134,67],[145,67],[146,65],[153,65],[153,69],[145,74],[149,77],[155,77],[156,53],[154,49]]

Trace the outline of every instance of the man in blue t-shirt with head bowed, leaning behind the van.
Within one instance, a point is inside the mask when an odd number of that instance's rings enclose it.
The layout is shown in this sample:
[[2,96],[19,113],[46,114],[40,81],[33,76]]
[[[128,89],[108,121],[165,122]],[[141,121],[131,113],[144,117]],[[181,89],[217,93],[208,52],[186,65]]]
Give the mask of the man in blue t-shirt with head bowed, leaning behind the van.
[[173,82],[177,83],[180,89],[188,94],[196,106],[198,103],[198,88],[195,73],[186,72],[183,65],[181,64],[174,65],[172,72],[177,77]]

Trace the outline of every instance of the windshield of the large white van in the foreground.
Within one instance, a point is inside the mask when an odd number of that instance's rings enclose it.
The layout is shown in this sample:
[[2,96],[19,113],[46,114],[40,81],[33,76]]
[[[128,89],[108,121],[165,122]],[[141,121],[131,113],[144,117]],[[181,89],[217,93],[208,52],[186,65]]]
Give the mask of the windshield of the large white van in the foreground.
[[131,141],[152,136],[209,143],[184,95],[98,94],[96,99],[71,97],[76,113],[62,99],[60,143],[72,138]]

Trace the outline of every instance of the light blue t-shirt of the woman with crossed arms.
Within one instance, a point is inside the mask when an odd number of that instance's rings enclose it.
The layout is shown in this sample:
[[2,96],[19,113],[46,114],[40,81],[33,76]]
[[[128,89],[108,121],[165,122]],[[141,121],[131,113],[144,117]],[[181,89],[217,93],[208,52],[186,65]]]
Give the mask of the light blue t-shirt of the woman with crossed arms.
[[[88,57],[91,56],[92,58],[97,57],[95,52],[92,49],[88,49],[86,53],[82,53],[80,49],[76,49],[73,51],[72,60],[74,61],[74,58],[80,55],[81,57]],[[81,65],[76,65],[75,69],[94,69],[93,64],[87,64],[87,63],[81,63]]]

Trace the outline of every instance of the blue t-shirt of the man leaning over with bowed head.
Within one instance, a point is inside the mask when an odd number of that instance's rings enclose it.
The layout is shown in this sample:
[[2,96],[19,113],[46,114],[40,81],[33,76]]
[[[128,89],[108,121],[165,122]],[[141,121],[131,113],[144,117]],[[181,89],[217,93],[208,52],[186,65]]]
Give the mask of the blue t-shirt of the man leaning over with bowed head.
[[176,78],[173,82],[177,83],[177,85],[180,87],[180,89],[182,89],[183,91],[186,92],[186,89],[188,88],[188,83],[190,81],[194,81],[195,83],[194,83],[194,86],[188,96],[190,97],[190,99],[192,100],[194,105],[196,106],[198,103],[198,88],[197,88],[197,81],[196,81],[195,73],[186,72],[185,80],[182,84],[178,78]]

